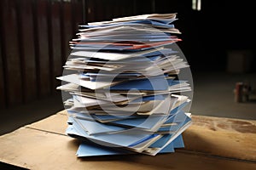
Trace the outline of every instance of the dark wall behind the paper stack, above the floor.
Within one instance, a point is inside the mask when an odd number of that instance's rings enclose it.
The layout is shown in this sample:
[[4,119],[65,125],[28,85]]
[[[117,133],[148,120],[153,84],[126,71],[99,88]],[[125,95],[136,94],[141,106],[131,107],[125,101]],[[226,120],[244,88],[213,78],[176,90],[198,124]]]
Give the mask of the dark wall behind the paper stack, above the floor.
[[[230,50],[255,54],[252,1],[202,0],[2,0],[0,2],[0,108],[59,92],[79,24],[134,14],[177,13],[178,45],[193,72],[226,71]],[[235,61],[236,62],[236,61]],[[255,65],[255,57],[251,65]],[[239,64],[239,63],[237,63]],[[255,71],[253,67],[250,71]]]

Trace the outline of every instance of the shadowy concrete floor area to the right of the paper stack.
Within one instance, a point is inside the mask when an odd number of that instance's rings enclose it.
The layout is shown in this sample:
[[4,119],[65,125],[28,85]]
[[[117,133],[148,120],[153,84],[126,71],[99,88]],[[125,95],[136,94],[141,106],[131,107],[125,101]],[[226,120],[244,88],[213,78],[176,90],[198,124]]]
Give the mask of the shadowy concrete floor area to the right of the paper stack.
[[256,120],[256,95],[250,101],[236,103],[236,82],[250,82],[256,88],[256,74],[194,73],[194,97],[191,113]]

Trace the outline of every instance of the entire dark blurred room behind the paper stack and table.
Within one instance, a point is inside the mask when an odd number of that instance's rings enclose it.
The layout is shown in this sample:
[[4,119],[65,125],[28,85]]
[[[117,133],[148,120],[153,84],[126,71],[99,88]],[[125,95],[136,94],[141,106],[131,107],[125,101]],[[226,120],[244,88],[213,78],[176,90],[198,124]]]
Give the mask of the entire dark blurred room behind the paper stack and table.
[[[256,119],[255,5],[207,0],[2,0],[0,134],[63,110],[61,76],[78,26],[177,13],[194,78],[191,113]],[[236,93],[235,93],[236,92]]]

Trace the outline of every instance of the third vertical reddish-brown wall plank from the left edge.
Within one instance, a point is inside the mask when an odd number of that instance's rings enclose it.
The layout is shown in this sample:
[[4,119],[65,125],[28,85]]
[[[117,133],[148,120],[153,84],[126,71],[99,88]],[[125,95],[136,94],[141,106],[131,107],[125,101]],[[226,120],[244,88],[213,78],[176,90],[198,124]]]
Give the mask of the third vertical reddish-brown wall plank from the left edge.
[[52,80],[49,68],[49,38],[47,25],[47,1],[34,1],[35,30],[37,31],[37,59],[38,59],[38,88],[39,96],[44,98],[50,94],[50,81]]

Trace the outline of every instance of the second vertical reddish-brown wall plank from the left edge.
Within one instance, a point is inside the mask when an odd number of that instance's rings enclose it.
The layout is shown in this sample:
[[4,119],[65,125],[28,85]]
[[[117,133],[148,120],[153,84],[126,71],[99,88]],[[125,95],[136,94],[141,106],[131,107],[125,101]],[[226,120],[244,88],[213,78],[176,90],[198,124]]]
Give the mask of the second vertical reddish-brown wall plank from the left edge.
[[37,67],[34,48],[34,29],[32,20],[32,0],[18,1],[18,11],[20,20],[20,55],[22,56],[22,71],[24,77],[23,92],[25,102],[37,98]]

